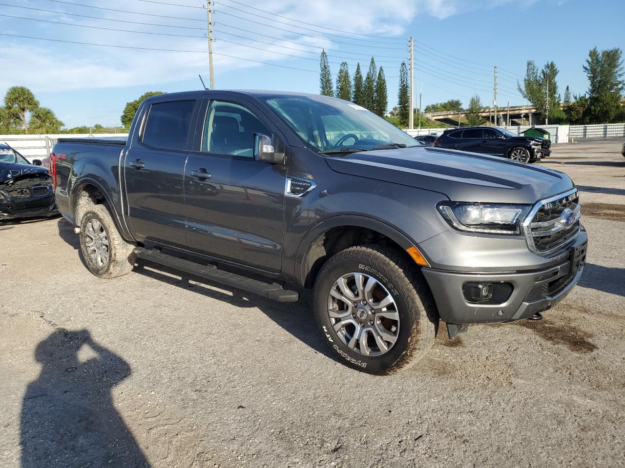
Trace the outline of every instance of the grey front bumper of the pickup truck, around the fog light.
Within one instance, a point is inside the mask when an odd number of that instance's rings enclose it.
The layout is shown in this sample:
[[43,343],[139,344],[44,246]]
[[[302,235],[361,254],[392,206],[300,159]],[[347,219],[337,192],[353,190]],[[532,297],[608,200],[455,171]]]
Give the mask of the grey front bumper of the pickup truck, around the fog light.
[[[577,284],[586,261],[587,235],[577,236],[556,265],[517,273],[456,273],[422,268],[442,321],[454,324],[509,322],[552,308]],[[467,283],[506,285],[499,303],[467,301]],[[501,286],[503,288],[503,286]]]

